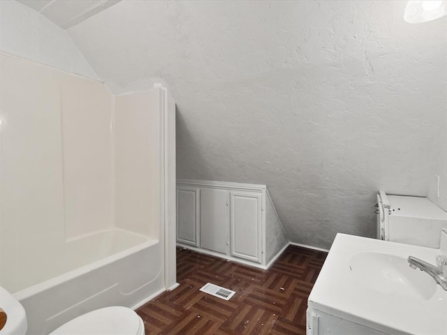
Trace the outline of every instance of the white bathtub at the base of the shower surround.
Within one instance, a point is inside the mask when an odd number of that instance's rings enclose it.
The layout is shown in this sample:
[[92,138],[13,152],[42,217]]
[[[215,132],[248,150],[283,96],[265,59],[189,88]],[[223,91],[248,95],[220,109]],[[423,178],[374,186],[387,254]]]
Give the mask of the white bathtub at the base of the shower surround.
[[112,228],[28,249],[13,295],[27,311],[29,335],[104,306],[135,309],[165,290],[163,243],[141,234]]

